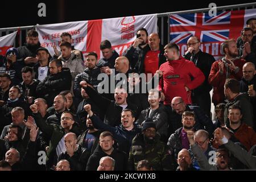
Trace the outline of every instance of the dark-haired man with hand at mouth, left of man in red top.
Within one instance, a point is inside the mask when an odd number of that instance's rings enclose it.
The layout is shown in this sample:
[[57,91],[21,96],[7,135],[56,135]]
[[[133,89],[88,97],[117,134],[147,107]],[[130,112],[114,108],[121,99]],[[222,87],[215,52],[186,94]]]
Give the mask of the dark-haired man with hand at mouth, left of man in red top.
[[[147,43],[148,32],[146,28],[139,28],[136,32],[137,38],[134,43],[123,53],[123,56],[127,57],[130,61],[130,68],[134,69],[138,67],[138,63],[144,60],[146,52],[150,49]],[[143,67],[140,67],[143,69]]]

